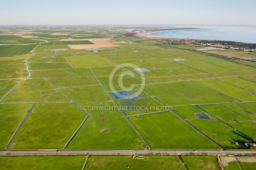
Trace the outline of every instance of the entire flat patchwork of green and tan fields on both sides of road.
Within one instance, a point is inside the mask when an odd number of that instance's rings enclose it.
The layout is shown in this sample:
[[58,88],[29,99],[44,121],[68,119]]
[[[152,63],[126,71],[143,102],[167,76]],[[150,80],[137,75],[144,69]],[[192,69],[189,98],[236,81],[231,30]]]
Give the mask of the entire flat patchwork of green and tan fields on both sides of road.
[[[17,34],[33,37],[0,36],[4,43],[40,42],[0,45],[0,150],[7,146],[24,118],[8,150],[61,150],[65,146],[67,150],[148,150],[147,145],[152,150],[228,150],[241,149],[236,142],[249,142],[255,137],[256,69],[248,66],[253,64],[175,48],[181,45],[144,45],[119,36],[123,32],[93,29],[26,30],[31,35],[18,29],[10,34],[23,32]],[[152,45],[167,42],[140,41]],[[100,43],[105,44],[97,47]],[[193,47],[198,48],[182,48]],[[121,67],[111,75],[123,63],[148,69],[143,70],[145,78],[140,70],[131,67]],[[121,83],[125,88],[135,85],[128,91],[131,94],[144,84],[145,88],[135,99],[128,99]],[[116,92],[125,93],[126,98],[115,96]],[[64,157],[6,159],[0,161],[0,169],[15,169],[19,164],[26,169],[25,163],[34,169],[82,169],[87,158],[86,170],[220,169],[215,156],[181,156],[183,163],[177,156]],[[35,161],[40,162],[37,165]]]

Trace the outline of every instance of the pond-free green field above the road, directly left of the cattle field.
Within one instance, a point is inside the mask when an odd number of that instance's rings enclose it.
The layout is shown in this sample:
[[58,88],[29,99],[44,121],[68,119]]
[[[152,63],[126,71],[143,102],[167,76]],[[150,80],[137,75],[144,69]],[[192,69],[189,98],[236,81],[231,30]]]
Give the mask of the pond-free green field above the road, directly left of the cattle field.
[[36,104],[10,149],[61,149],[86,115],[73,104]]

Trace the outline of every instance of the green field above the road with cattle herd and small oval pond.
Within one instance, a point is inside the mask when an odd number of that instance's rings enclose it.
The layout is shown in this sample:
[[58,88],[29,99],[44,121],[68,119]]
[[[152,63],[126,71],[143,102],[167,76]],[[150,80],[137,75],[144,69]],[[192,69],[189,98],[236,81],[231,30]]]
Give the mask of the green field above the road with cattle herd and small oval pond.
[[[90,117],[67,149],[143,149],[145,146],[113,102],[80,106],[90,114]],[[91,111],[90,107],[93,106],[112,109]],[[108,131],[102,133],[103,129]]]

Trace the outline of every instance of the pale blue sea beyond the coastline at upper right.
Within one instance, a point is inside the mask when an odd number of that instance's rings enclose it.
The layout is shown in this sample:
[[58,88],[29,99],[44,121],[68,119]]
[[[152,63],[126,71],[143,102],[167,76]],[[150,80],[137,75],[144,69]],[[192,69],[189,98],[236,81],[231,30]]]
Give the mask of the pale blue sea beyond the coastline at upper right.
[[150,35],[165,38],[222,40],[256,43],[256,26],[168,26],[167,28],[200,28],[194,30],[161,31]]

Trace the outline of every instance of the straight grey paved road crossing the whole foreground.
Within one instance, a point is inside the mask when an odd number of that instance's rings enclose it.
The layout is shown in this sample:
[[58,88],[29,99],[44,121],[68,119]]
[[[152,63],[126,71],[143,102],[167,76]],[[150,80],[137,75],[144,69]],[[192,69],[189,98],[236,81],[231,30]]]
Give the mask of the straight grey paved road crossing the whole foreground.
[[28,151],[0,151],[0,155],[61,155],[61,154],[254,154],[256,151],[248,150],[28,150]]

